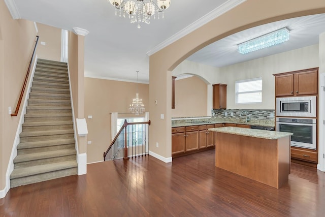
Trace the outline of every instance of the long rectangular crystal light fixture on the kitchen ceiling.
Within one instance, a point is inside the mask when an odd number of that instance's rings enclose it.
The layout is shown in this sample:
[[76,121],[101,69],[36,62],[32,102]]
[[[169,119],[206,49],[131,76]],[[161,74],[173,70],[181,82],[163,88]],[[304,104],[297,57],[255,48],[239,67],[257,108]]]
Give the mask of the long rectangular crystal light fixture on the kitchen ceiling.
[[245,54],[255,50],[267,48],[289,40],[289,29],[284,27],[272,33],[259,36],[238,45],[238,52]]

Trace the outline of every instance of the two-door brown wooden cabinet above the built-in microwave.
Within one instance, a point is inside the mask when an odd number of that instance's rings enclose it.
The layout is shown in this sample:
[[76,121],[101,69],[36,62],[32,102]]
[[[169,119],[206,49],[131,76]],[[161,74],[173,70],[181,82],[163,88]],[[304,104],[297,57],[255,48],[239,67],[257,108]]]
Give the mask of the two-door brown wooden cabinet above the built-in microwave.
[[275,96],[316,95],[318,68],[275,74]]

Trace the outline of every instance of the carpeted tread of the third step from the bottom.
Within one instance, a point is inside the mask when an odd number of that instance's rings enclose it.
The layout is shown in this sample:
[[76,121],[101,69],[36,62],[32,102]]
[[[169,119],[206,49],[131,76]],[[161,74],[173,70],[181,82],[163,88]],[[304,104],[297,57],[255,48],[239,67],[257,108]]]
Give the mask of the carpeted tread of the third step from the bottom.
[[64,144],[72,144],[72,143],[75,143],[74,138],[52,139],[52,140],[35,141],[35,142],[20,142],[17,145],[17,149],[38,148],[38,147],[47,147],[47,146],[64,145]]

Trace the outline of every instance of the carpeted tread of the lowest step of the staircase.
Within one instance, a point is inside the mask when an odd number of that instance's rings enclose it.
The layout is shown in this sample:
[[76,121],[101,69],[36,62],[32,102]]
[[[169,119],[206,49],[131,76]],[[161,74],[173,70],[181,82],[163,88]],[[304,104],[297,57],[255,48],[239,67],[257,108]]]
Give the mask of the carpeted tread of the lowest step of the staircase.
[[64,162],[58,162],[52,164],[16,168],[12,171],[10,175],[10,179],[37,175],[37,174],[47,173],[47,172],[53,172],[57,170],[69,169],[77,166],[78,166],[77,161],[64,161]]

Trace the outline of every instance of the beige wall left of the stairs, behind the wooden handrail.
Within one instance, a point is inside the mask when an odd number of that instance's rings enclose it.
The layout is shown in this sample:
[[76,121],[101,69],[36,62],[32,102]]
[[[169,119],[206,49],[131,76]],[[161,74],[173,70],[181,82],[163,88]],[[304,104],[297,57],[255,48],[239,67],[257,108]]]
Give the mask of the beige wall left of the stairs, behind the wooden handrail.
[[[17,117],[8,114],[8,107],[15,110],[24,81],[36,30],[33,22],[13,20],[4,1],[0,2],[0,191],[6,186],[6,172],[18,127],[21,108]],[[8,183],[9,184],[9,183]]]

